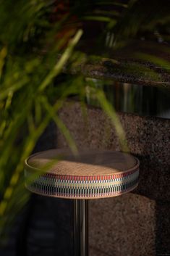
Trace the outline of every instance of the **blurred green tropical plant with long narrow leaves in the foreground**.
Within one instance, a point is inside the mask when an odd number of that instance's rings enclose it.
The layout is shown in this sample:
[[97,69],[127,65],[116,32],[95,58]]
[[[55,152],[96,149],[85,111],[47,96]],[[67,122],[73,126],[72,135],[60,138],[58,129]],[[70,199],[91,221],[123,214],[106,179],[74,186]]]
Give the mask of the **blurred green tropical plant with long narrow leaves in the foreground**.
[[[163,1],[137,0],[83,3],[1,0],[0,3],[0,231],[3,235],[29,197],[23,189],[24,161],[51,119],[77,154],[75,141],[57,112],[72,94],[85,106],[87,73],[83,74],[81,68],[91,62],[102,62],[97,54],[88,57],[82,50],[82,34],[89,38],[90,26],[98,28],[92,49],[95,52],[102,45],[107,58],[111,51],[124,48],[132,39],[148,35],[165,41],[163,49],[167,52],[170,16],[167,1],[163,4]],[[168,60],[154,54],[136,54],[137,58],[157,62],[163,68],[169,66]],[[111,63],[116,65],[117,60],[112,59]],[[123,67],[125,73],[128,68],[128,65]],[[141,72],[140,68],[141,65],[136,73]],[[150,67],[143,67],[143,73],[146,70]],[[63,78],[61,73],[67,75]],[[151,76],[157,78],[156,70]],[[122,125],[102,86],[97,88],[88,81],[88,88],[111,118],[122,149],[127,150]]]

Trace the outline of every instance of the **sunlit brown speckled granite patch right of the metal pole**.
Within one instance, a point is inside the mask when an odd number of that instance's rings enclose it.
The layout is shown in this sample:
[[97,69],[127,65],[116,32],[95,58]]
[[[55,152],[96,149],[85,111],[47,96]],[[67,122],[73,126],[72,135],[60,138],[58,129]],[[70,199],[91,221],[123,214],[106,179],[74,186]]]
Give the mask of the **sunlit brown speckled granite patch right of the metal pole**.
[[90,248],[101,255],[154,255],[155,205],[153,200],[132,193],[93,200],[89,207]]

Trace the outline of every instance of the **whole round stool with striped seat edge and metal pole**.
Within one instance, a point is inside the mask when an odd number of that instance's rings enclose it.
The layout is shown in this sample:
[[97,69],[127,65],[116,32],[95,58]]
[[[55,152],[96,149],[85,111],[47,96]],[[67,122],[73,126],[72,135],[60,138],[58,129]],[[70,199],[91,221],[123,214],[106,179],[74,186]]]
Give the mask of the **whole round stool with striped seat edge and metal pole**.
[[88,256],[88,199],[116,197],[132,191],[138,176],[136,157],[108,150],[81,150],[74,156],[66,149],[51,149],[25,160],[27,189],[47,197],[75,199],[75,256]]

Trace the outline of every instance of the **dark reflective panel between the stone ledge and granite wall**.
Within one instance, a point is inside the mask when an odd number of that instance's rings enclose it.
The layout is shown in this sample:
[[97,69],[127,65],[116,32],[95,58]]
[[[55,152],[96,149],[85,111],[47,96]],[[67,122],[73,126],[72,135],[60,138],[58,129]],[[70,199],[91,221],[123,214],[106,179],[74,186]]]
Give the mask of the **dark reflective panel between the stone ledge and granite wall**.
[[[89,80],[93,80],[96,88],[103,88],[107,99],[118,112],[170,119],[169,88],[141,86],[92,78],[88,78],[87,82]],[[98,106],[98,102],[90,95],[89,91],[87,93],[87,103]]]

